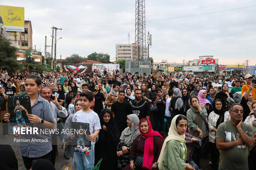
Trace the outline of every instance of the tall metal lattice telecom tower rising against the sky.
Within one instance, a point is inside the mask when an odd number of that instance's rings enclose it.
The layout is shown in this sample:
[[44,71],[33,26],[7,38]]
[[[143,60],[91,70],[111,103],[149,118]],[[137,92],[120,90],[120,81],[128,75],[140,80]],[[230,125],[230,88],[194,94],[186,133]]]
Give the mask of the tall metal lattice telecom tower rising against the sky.
[[145,0],[136,0],[135,60],[145,60],[146,54]]

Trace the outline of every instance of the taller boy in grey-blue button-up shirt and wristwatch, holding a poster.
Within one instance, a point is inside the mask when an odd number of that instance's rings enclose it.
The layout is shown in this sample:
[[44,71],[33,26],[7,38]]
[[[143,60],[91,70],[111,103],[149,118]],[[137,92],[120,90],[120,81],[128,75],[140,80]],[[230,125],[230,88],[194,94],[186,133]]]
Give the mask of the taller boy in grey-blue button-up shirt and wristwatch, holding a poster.
[[[38,95],[38,91],[42,88],[42,80],[36,74],[30,74],[25,80],[25,89],[30,96],[32,114],[28,114],[28,120],[34,124],[34,127],[41,129],[54,129],[54,116],[51,105],[48,101]],[[18,103],[17,103],[18,104]],[[4,121],[10,122],[10,114],[4,115]],[[52,137],[51,134],[25,134],[19,135],[19,139],[26,139],[26,142],[19,142],[20,154],[22,156],[26,169],[30,169],[32,161],[35,159],[51,158]],[[47,142],[38,142],[41,139],[47,139]]]

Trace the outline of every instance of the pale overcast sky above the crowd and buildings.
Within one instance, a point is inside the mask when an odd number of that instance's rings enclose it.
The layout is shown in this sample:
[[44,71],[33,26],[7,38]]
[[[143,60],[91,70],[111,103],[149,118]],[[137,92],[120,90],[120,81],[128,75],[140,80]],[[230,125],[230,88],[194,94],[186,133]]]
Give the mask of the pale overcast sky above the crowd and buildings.
[[[57,30],[57,38],[63,37],[57,42],[57,56],[102,52],[114,60],[115,46],[128,43],[128,32],[130,43],[134,42],[135,2],[2,0],[1,4],[25,7],[25,20],[32,24],[33,46],[41,47],[43,55],[45,36],[47,45],[51,45],[51,27],[55,26],[62,28]],[[256,5],[255,0],[146,0],[146,32],[152,34],[149,55],[155,62],[165,59],[181,63],[183,59],[213,55],[219,64],[243,63],[249,59],[250,65],[254,65],[256,6],[248,7],[252,5]],[[242,7],[248,8],[237,9]],[[198,15],[211,12],[217,13]],[[172,19],[159,20],[165,18]],[[151,20],[159,21],[148,22]],[[51,52],[51,48],[47,51]]]

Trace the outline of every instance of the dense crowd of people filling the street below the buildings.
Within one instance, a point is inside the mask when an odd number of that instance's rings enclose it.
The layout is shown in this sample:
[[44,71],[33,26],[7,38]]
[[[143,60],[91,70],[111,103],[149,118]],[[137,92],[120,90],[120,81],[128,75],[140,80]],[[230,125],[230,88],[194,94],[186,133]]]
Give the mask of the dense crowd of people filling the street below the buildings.
[[[30,96],[28,119],[40,128],[67,130],[72,122],[90,124],[86,139],[91,155],[73,152],[74,134],[59,135],[68,142],[64,158],[72,170],[91,170],[101,159],[101,170],[200,170],[200,158],[208,154],[209,169],[254,169],[256,84],[251,74],[1,70],[0,76],[4,137],[10,135],[8,96]],[[236,103],[233,95],[240,91],[241,102]],[[57,137],[48,136],[52,143]],[[24,165],[32,170],[35,161],[54,169],[57,152],[62,152],[57,145],[20,145]],[[18,169],[9,161],[4,166]]]

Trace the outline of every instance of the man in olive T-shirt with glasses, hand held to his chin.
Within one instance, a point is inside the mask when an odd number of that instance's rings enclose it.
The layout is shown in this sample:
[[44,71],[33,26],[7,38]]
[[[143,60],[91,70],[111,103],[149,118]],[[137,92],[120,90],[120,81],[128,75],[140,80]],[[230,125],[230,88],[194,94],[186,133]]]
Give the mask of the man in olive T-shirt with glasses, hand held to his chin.
[[248,170],[248,147],[253,146],[255,139],[252,126],[242,122],[243,113],[241,104],[233,104],[229,110],[230,120],[217,128],[216,146],[220,151],[221,170]]

